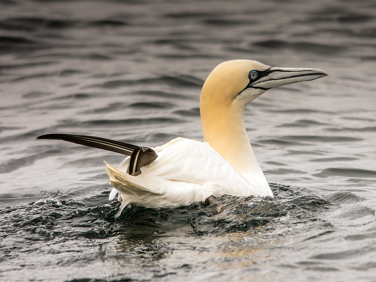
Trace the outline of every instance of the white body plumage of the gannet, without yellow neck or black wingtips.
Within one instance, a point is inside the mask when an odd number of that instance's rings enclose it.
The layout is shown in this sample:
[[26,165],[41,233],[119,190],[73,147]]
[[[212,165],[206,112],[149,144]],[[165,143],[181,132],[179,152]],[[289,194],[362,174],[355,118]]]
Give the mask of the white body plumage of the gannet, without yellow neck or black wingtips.
[[253,178],[250,185],[207,142],[179,137],[154,150],[158,158],[142,167],[138,176],[127,173],[130,157],[118,168],[106,163],[108,181],[114,187],[109,198],[114,199],[119,192],[118,200],[123,201],[118,215],[131,203],[176,208],[205,201],[212,195],[273,196],[263,174]]

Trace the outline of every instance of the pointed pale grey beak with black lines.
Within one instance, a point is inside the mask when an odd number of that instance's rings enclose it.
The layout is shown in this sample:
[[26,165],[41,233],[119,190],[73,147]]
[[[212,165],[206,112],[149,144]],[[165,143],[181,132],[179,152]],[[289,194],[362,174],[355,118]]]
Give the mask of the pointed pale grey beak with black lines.
[[249,87],[270,89],[296,82],[329,76],[326,71],[317,68],[269,68],[264,76],[249,84]]

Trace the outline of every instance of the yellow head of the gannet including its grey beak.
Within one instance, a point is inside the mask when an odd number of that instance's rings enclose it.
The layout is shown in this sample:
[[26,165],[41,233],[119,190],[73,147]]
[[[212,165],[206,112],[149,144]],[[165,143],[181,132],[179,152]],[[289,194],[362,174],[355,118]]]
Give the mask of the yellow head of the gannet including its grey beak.
[[219,64],[206,79],[200,107],[242,101],[244,106],[270,88],[328,76],[315,68],[278,68],[256,61],[233,60]]

